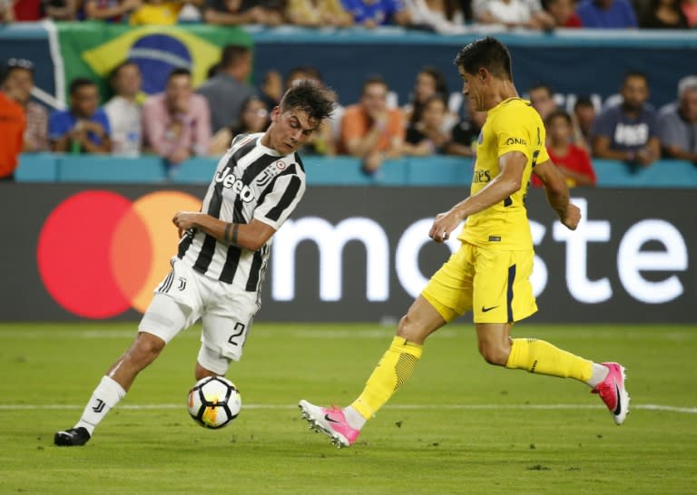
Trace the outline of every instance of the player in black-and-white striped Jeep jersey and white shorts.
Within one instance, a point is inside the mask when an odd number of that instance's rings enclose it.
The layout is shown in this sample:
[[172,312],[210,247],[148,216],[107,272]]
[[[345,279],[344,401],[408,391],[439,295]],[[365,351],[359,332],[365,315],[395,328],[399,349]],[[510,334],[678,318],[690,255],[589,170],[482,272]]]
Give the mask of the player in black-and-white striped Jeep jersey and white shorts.
[[221,158],[201,211],[172,218],[182,236],[172,271],[157,286],[133,344],[94,389],[73,428],[54,443],[84,445],[125,396],[133,380],[182,330],[201,319],[195,377],[224,375],[242,347],[260,307],[260,287],[271,238],[305,192],[296,153],[335,104],[334,92],[299,82],[271,112],[263,133],[236,137]]

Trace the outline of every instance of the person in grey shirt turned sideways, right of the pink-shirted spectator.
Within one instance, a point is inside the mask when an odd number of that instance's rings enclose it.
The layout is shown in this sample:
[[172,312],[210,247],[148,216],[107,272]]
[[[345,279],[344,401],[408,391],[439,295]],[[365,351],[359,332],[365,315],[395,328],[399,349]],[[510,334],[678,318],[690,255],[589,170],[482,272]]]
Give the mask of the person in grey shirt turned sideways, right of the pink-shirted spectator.
[[211,109],[211,131],[220,131],[240,119],[242,102],[255,94],[247,82],[251,73],[251,51],[247,46],[228,44],[222,49],[215,75],[201,84],[197,92]]

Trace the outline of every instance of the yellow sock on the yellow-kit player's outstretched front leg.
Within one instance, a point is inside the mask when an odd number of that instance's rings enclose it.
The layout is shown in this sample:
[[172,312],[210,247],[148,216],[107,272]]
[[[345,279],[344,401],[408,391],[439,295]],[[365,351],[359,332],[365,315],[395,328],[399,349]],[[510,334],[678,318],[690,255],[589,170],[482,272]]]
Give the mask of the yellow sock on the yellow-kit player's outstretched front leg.
[[423,345],[395,337],[351,407],[366,420],[370,419],[411,376],[423,350]]

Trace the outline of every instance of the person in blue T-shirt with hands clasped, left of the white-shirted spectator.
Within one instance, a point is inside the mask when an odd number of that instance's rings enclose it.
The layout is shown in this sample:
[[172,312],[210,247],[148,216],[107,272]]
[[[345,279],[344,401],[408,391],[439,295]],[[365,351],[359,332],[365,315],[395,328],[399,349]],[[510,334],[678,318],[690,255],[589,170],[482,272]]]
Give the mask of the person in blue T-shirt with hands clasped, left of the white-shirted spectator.
[[70,83],[70,108],[51,114],[51,150],[71,153],[108,153],[112,150],[109,118],[99,107],[97,85],[84,77]]

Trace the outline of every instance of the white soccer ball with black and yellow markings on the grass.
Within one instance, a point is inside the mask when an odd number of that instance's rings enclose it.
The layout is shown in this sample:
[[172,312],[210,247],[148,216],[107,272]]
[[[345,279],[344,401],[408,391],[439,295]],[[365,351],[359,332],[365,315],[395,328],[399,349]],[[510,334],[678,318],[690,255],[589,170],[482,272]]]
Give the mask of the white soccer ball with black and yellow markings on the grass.
[[227,426],[240,413],[240,391],[227,378],[207,376],[189,391],[189,414],[193,421],[205,428],[218,429]]

